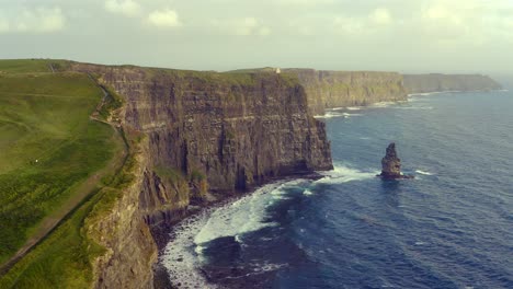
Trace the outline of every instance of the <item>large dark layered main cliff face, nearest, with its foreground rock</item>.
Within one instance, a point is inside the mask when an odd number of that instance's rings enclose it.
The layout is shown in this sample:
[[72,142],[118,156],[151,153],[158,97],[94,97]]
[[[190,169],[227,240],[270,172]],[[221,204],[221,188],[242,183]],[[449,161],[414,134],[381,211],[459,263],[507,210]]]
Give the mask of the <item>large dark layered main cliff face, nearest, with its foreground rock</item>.
[[[119,122],[141,132],[137,182],[101,223],[107,254],[96,287],[151,282],[148,231],[190,205],[221,199],[297,173],[332,169],[324,124],[309,112],[297,78],[72,63],[126,100]],[[110,228],[115,228],[111,232]]]

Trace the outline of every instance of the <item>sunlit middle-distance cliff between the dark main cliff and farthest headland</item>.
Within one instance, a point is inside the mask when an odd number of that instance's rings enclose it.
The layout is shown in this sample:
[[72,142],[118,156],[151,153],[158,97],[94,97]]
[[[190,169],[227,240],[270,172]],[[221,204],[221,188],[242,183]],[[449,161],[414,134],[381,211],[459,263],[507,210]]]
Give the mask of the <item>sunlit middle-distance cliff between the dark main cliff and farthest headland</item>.
[[402,76],[396,72],[322,71],[285,69],[305,86],[308,103],[315,114],[324,108],[365,106],[378,102],[406,101]]

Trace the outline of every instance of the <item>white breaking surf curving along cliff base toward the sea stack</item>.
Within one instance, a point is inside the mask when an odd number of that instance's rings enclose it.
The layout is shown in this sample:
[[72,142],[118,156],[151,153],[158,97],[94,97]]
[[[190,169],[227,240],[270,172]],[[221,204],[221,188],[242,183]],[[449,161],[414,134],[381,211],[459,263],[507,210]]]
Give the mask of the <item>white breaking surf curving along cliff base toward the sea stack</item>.
[[[342,164],[329,172],[319,172],[323,177],[317,181],[294,180],[265,185],[254,193],[233,203],[205,210],[183,220],[172,233],[160,262],[170,275],[173,285],[185,288],[217,288],[207,281],[202,274],[206,262],[203,254],[209,242],[221,238],[233,238],[243,245],[243,236],[264,228],[276,227],[270,221],[267,208],[278,201],[288,199],[287,188],[300,188],[304,197],[316,193],[318,184],[340,184],[375,177],[377,172],[363,172]],[[280,269],[283,266],[256,266],[254,273]],[[260,269],[259,269],[260,268]]]

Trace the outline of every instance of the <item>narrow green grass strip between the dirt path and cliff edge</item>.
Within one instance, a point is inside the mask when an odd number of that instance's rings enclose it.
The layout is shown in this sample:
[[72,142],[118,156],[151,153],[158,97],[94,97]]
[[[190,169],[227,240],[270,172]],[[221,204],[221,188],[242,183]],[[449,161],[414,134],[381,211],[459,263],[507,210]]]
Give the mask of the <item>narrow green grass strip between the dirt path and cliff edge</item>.
[[[127,136],[128,135],[128,136]],[[140,136],[123,132],[130,153],[104,187],[86,200],[47,239],[0,279],[0,288],[91,288],[92,263],[105,250],[95,240],[110,240],[98,222],[111,213],[123,189],[135,180]]]

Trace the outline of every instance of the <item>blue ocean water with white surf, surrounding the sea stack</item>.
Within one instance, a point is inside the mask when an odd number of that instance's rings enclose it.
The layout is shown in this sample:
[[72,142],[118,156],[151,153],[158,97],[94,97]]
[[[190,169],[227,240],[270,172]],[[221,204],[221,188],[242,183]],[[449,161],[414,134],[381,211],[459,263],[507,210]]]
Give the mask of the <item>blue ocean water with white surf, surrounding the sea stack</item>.
[[[181,288],[513,288],[513,93],[335,109],[335,170],[182,223]],[[381,181],[395,141],[404,173]]]

